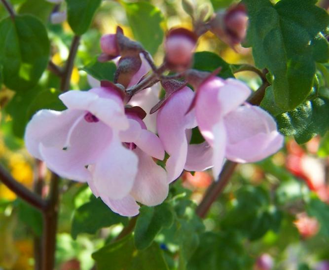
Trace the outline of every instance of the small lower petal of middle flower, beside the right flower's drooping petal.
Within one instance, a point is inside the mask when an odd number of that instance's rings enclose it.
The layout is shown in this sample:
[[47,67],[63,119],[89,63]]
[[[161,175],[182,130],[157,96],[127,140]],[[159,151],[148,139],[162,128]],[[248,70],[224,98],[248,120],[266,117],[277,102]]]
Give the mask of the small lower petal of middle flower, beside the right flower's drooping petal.
[[187,171],[204,171],[213,166],[213,149],[207,142],[192,144],[187,148],[184,169]]

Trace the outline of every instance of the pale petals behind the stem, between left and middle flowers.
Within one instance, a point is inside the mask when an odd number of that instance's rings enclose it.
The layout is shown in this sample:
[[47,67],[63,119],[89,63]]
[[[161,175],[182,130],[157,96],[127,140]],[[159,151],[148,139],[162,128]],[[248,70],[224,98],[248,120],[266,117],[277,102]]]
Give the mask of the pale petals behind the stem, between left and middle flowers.
[[156,116],[157,112],[150,115],[149,112],[152,107],[159,102],[159,93],[160,93],[161,85],[160,83],[154,84],[152,87],[146,88],[143,91],[134,95],[129,101],[128,105],[131,106],[139,106],[146,113],[146,117],[143,121],[146,124],[146,127],[149,131],[156,133]]

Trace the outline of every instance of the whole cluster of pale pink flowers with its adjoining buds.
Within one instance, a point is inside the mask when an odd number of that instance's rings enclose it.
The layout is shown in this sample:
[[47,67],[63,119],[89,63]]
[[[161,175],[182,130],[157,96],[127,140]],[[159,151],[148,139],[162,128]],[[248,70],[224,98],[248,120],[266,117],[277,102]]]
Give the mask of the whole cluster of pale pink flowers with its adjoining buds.
[[[187,30],[170,32],[168,66],[186,70],[195,44]],[[33,156],[61,177],[87,182],[114,212],[134,216],[139,213],[137,202],[160,204],[183,170],[213,168],[217,179],[225,159],[255,162],[282,147],[275,121],[246,103],[251,90],[239,80],[209,74],[191,82],[193,91],[185,81],[164,79],[166,94],[160,100],[160,83],[129,92],[151,70],[149,56],[138,43],[129,42],[118,28],[102,37],[101,48],[102,61],[120,57],[119,84],[102,81],[89,91],[63,93],[59,98],[67,109],[37,112],[25,142]],[[204,142],[190,144],[194,128]]]

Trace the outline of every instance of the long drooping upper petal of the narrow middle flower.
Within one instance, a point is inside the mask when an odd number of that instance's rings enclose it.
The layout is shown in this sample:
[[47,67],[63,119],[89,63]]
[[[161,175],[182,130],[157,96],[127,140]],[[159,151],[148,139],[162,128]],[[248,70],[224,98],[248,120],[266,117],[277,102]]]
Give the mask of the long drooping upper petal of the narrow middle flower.
[[186,162],[188,142],[185,130],[195,127],[196,121],[194,111],[185,113],[193,97],[193,91],[184,87],[175,92],[158,111],[158,134],[165,151],[170,154],[166,163],[169,182],[180,176]]

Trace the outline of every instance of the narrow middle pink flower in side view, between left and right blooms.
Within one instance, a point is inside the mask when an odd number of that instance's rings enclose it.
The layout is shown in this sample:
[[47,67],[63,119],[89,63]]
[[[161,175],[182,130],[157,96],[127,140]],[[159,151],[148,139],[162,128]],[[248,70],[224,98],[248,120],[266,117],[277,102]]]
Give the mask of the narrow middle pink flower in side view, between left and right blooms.
[[212,149],[207,142],[189,145],[191,129],[197,126],[194,111],[185,114],[194,92],[183,87],[170,96],[158,111],[157,130],[165,151],[168,181],[177,179],[183,169],[203,171],[211,167]]

